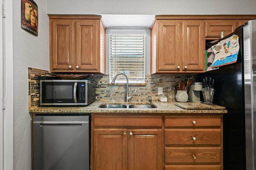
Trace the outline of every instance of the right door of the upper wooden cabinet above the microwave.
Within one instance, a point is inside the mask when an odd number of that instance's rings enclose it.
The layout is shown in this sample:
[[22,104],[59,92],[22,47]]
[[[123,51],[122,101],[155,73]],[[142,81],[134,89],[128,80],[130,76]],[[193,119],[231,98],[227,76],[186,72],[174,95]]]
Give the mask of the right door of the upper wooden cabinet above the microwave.
[[76,20],[76,70],[98,70],[98,21]]

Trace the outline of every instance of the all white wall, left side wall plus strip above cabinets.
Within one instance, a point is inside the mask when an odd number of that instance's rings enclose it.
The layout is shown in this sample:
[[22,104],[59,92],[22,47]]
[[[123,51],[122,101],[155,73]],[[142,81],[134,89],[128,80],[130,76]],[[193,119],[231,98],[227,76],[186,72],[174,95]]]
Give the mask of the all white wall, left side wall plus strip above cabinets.
[[39,17],[35,37],[20,28],[21,0],[12,1],[14,170],[31,169],[28,67],[50,68],[46,14],[256,14],[256,0],[34,0]]

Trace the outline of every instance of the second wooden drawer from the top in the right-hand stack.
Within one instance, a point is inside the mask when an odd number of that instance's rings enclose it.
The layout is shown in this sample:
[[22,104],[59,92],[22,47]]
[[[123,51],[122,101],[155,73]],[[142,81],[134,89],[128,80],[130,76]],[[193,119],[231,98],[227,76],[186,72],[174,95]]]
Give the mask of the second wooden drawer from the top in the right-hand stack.
[[217,145],[220,146],[220,129],[165,129],[165,145]]

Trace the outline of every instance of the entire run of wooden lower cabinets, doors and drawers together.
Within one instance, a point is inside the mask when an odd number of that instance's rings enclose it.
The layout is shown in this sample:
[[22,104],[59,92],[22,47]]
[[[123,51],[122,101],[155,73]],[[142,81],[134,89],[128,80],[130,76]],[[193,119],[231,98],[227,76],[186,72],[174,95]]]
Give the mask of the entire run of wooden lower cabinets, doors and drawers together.
[[222,115],[92,113],[92,170],[222,170]]

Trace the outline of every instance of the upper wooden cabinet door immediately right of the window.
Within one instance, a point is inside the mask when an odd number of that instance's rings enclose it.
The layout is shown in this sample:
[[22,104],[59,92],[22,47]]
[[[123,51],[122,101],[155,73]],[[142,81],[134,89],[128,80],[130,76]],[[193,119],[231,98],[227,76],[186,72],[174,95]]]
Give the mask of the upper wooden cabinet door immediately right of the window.
[[159,21],[159,72],[179,71],[182,64],[182,21]]

